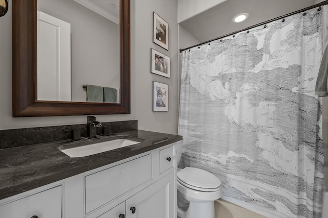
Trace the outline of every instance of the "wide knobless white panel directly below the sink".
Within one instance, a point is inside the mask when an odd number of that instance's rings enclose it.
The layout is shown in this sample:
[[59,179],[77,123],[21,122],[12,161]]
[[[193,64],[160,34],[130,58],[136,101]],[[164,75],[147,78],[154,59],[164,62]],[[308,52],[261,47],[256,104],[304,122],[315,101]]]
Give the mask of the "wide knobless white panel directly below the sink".
[[152,176],[152,154],[86,176],[86,214],[151,180]]

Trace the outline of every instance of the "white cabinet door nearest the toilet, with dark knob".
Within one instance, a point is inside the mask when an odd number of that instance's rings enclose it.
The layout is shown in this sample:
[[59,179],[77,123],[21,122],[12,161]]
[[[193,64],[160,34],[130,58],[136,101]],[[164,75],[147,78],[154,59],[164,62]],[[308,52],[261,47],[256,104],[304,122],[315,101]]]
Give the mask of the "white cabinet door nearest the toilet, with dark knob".
[[174,172],[126,201],[127,218],[174,217]]

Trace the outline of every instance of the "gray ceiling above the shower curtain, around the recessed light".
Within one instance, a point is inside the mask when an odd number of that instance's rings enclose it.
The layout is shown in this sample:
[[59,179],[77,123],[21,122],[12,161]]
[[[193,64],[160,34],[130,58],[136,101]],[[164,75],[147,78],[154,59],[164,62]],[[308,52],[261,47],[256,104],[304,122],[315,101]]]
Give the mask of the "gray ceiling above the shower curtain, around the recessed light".
[[[179,25],[199,42],[206,42],[317,3],[316,0],[227,0]],[[244,12],[249,14],[247,20],[232,22],[235,15]]]

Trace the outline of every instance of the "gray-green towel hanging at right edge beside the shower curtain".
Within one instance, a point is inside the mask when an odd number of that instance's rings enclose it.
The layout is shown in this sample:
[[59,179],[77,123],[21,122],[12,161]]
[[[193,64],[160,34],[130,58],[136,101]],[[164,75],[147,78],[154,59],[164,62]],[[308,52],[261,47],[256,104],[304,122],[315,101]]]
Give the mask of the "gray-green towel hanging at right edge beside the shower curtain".
[[320,68],[319,68],[319,74],[316,82],[316,91],[315,95],[318,95],[318,97],[322,96],[328,96],[328,46],[325,48]]

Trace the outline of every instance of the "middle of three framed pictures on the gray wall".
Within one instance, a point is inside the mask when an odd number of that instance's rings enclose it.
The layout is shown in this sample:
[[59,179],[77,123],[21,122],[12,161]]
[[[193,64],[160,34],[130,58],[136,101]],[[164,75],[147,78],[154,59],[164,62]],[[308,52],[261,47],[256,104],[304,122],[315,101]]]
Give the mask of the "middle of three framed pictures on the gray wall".
[[163,77],[170,78],[171,71],[170,71],[170,65],[171,60],[170,57],[157,52],[154,49],[151,50],[151,72],[153,74],[158,74]]

